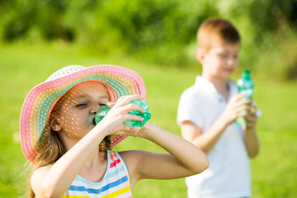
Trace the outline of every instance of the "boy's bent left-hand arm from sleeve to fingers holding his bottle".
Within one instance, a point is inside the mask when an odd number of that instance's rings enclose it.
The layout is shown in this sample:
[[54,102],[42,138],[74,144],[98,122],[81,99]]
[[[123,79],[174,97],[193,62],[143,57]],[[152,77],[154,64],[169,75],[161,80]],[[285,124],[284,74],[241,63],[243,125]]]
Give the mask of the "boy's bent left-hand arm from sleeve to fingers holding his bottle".
[[243,97],[245,97],[244,93],[233,95],[221,116],[204,133],[202,133],[201,127],[190,120],[185,120],[181,124],[182,136],[202,149],[204,153],[209,153],[226,127],[234,122],[237,117],[241,116],[243,110],[248,110],[248,104],[251,103],[251,100],[242,99]]

